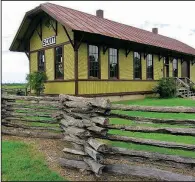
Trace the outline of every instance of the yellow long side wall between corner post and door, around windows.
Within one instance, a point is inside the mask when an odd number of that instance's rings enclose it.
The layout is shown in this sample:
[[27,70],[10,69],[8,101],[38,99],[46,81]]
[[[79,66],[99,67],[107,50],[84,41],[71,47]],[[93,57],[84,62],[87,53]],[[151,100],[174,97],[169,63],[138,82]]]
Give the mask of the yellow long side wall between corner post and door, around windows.
[[[157,80],[163,77],[163,61],[158,60],[154,55],[154,80],[146,80],[146,60],[142,54],[142,80],[133,80],[133,52],[126,57],[125,50],[119,49],[119,77],[121,81],[108,80],[108,50],[103,54],[100,49],[100,69],[101,80],[88,79],[88,58],[87,44],[82,43],[78,53],[78,92],[79,94],[106,94],[106,93],[124,93],[124,92],[143,92],[152,91]],[[84,80],[83,80],[84,79]]]

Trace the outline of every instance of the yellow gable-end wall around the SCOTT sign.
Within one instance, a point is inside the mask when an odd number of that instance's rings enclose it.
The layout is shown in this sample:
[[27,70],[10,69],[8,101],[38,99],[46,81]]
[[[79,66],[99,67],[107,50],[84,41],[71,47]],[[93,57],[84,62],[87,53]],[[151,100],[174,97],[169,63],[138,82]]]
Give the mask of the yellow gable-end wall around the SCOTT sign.
[[[45,26],[46,19],[43,19],[42,23],[42,39],[51,37],[55,35],[55,32],[52,28]],[[71,39],[73,40],[73,32],[71,29],[66,27]],[[48,47],[42,46],[42,41],[39,38],[39,35],[34,31],[30,39],[30,72],[38,70],[38,51],[45,50],[45,69],[48,77],[48,82],[45,84],[45,93],[46,94],[74,94],[75,93],[75,83],[73,79],[74,76],[74,50],[72,45],[63,44],[69,41],[63,26],[58,23],[56,36],[56,44]],[[72,82],[58,82],[54,79],[54,47],[62,45],[64,49],[64,80]],[[50,82],[52,81],[52,82]]]

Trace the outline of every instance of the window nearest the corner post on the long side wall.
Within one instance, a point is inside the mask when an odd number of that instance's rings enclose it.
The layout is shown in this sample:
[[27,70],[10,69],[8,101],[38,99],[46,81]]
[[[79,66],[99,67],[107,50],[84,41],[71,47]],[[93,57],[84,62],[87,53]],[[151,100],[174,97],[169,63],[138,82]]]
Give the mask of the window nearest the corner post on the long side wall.
[[89,45],[89,77],[99,78],[99,50],[97,46]]

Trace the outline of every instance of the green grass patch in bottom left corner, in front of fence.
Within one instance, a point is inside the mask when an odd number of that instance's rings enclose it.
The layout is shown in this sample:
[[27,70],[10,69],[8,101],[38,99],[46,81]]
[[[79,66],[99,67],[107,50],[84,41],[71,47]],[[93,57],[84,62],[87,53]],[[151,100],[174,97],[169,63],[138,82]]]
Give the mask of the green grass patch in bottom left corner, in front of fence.
[[18,141],[2,141],[2,180],[65,181],[32,145]]

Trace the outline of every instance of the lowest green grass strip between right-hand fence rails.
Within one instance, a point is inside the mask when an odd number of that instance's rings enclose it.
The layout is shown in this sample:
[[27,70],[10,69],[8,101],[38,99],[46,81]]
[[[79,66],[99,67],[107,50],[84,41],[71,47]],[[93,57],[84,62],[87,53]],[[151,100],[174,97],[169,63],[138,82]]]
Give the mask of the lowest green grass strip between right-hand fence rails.
[[164,147],[156,147],[150,145],[139,145],[134,143],[125,143],[125,142],[110,142],[109,143],[116,147],[127,148],[130,150],[139,150],[139,151],[147,151],[147,152],[158,152],[161,154],[168,154],[168,155],[178,155],[183,157],[190,157],[195,158],[194,151],[184,151],[179,149],[169,149]]

